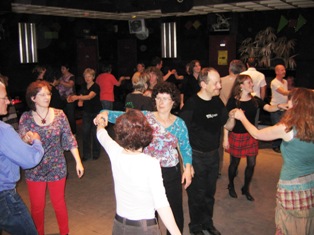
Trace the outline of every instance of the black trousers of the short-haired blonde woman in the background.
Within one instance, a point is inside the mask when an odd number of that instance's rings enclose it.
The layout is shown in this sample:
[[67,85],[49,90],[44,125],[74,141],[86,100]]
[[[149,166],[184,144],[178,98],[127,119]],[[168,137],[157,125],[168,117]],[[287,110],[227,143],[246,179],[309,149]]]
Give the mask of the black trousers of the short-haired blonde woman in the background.
[[83,113],[83,157],[97,159],[100,154],[100,143],[96,137],[96,126],[93,123],[97,113]]

